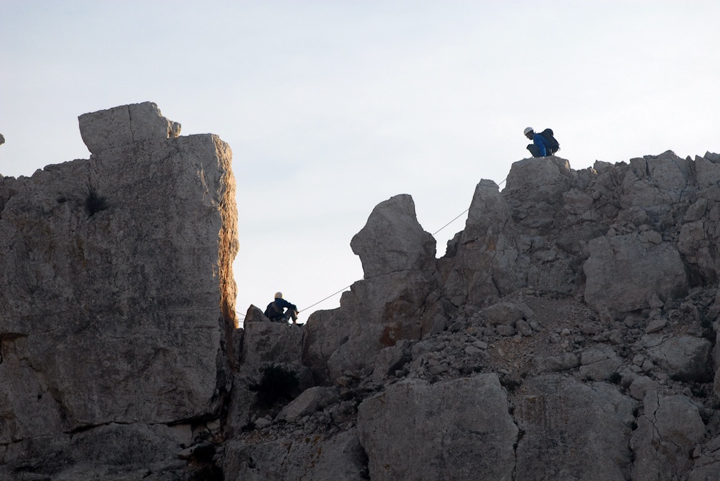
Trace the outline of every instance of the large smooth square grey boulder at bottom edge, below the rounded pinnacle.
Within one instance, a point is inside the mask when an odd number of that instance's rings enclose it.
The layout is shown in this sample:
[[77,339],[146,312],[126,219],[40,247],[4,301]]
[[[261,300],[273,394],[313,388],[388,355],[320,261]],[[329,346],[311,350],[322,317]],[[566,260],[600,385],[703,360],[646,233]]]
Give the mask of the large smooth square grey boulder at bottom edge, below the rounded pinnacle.
[[495,374],[397,382],[361,403],[358,431],[372,480],[513,477],[518,428]]

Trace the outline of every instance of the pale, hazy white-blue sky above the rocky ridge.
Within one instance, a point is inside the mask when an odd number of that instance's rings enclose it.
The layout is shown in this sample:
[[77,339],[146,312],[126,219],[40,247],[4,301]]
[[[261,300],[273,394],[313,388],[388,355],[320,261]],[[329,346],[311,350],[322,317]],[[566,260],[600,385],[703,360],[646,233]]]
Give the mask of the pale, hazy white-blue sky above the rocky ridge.
[[0,174],[89,158],[79,115],[153,101],[233,150],[240,321],[280,290],[302,323],[361,280],[351,238],[392,196],[444,255],[477,183],[529,156],[525,127],[576,170],[720,152],[719,19],[715,0],[0,0]]

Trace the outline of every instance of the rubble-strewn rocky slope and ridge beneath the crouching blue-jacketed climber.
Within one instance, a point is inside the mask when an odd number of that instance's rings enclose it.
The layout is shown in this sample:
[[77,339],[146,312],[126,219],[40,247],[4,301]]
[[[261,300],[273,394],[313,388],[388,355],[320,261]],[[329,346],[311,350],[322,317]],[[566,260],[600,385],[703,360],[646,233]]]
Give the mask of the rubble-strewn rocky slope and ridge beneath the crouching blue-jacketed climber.
[[[287,405],[302,415],[251,409],[263,427],[240,431],[225,467],[307,476],[307,464],[289,468],[294,448],[278,452],[279,472],[253,446],[339,430],[357,436],[373,480],[720,477],[706,229],[719,160],[516,162],[502,192],[477,185],[434,266],[415,261],[427,251],[408,199],[381,203],[353,242],[366,279],[303,328],[302,362],[339,400],[307,391]],[[397,319],[412,335],[387,335]]]

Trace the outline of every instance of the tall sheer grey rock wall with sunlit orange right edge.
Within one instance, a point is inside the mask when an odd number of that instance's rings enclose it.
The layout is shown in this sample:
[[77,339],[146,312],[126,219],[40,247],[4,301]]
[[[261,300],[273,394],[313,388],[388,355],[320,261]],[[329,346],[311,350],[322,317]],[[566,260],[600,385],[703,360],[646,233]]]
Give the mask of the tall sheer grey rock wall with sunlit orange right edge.
[[149,103],[80,124],[89,160],[1,180],[0,465],[18,479],[176,464],[230,391],[230,148],[168,138]]

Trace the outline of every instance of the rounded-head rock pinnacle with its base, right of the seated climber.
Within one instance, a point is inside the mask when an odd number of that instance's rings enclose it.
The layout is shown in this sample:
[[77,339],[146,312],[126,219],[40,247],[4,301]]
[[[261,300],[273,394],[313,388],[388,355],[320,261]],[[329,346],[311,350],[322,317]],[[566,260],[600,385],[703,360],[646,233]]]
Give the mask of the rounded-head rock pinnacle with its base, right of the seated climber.
[[435,239],[418,224],[410,196],[380,203],[351,246],[365,279],[343,293],[338,310],[328,317],[318,311],[305,326],[305,362],[333,382],[369,375],[384,347],[420,339],[436,289]]

